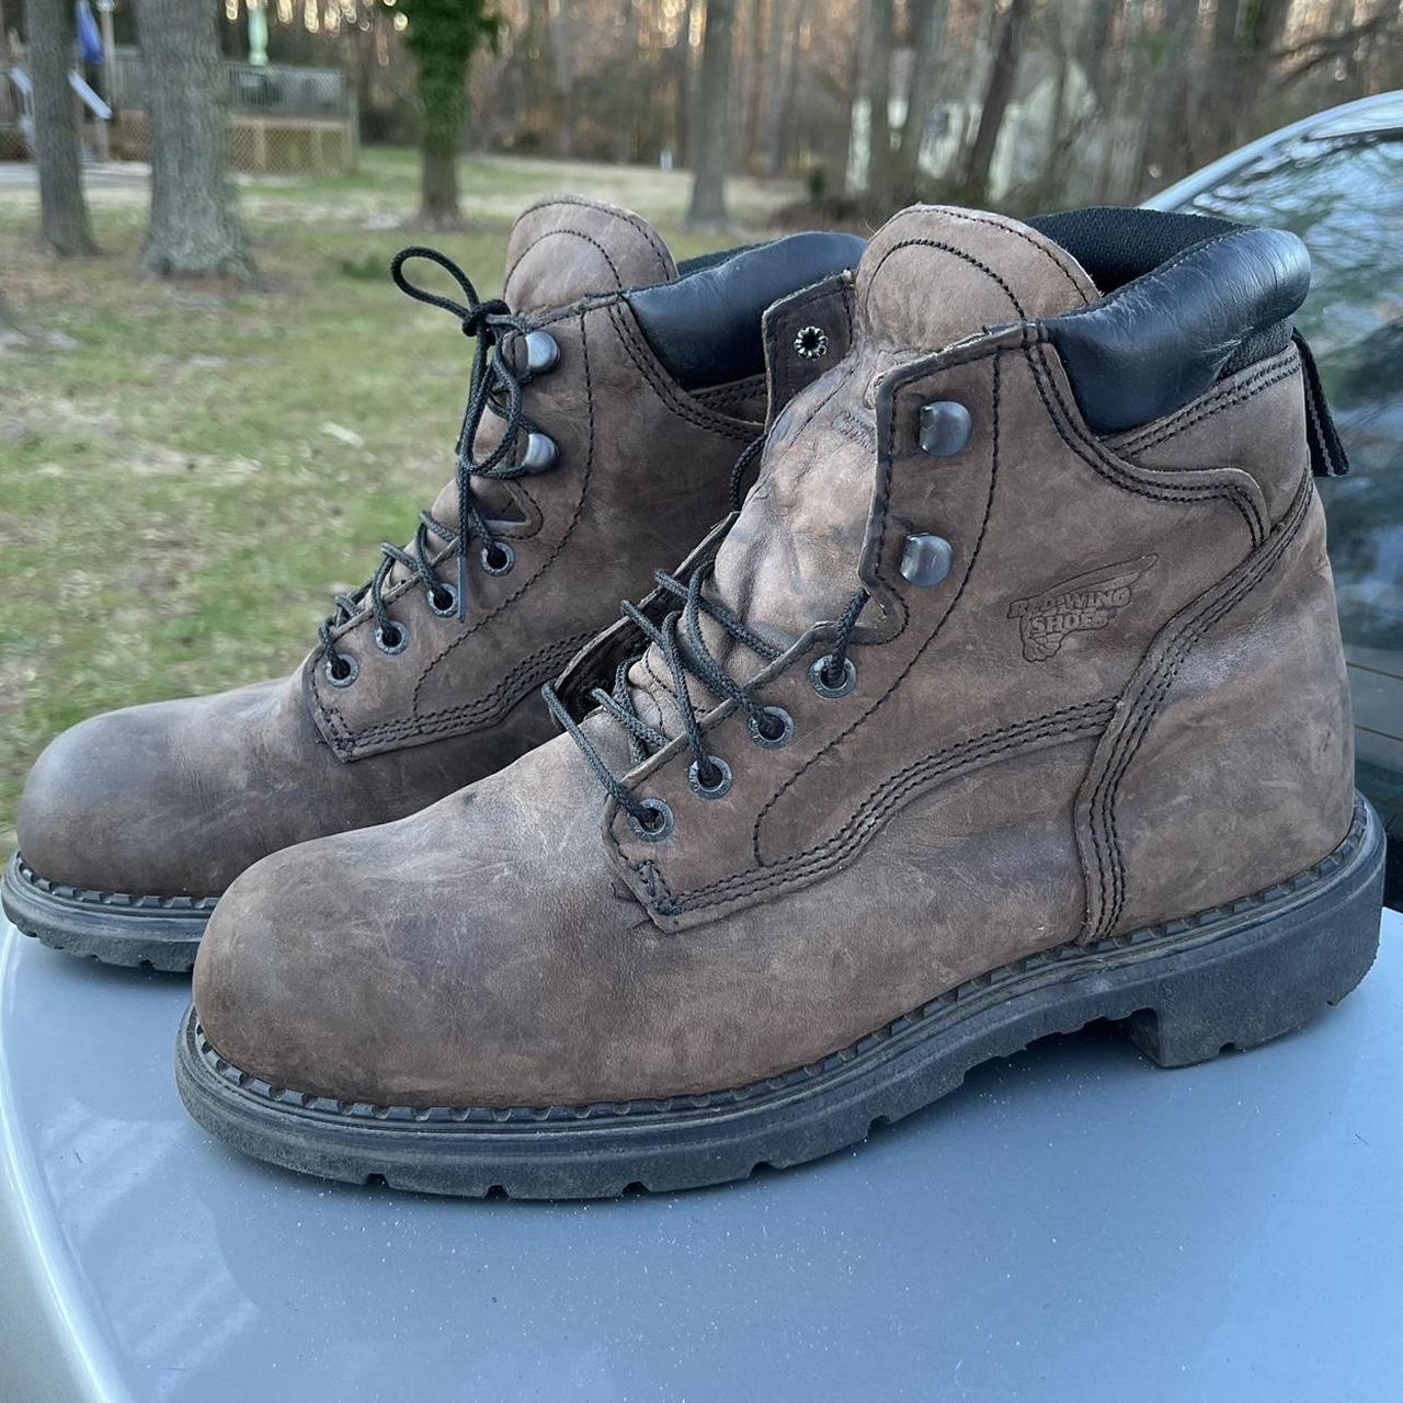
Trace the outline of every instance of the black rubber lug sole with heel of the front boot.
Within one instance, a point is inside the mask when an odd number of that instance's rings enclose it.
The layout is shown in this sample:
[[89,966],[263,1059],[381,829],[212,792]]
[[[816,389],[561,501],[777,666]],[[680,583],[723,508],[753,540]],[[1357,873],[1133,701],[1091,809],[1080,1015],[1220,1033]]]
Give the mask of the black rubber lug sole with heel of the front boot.
[[1383,835],[1358,801],[1345,840],[1270,891],[961,985],[822,1062],[664,1101],[513,1110],[370,1106],[269,1086],[209,1044],[194,1009],[177,1044],[191,1115],[258,1159],[324,1179],[483,1197],[609,1198],[745,1179],[867,1138],[965,1073],[1093,1020],[1160,1066],[1291,1033],[1364,978],[1379,940]]

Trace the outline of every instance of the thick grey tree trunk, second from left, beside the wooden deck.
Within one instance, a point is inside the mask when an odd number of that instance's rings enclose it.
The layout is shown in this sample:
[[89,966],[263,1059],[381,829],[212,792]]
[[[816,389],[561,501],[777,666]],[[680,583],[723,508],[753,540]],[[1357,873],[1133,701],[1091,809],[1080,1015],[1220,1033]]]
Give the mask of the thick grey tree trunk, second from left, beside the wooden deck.
[[152,223],[142,267],[157,276],[257,276],[229,174],[229,116],[215,13],[136,0],[152,123]]

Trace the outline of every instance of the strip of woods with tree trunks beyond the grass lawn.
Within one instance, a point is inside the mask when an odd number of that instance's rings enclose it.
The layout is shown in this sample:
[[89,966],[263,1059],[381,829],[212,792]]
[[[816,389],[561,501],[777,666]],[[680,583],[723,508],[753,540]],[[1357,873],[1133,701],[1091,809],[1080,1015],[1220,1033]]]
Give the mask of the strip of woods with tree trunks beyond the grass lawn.
[[[464,150],[690,170],[694,229],[731,223],[738,173],[801,175],[793,226],[873,227],[915,199],[1135,203],[1403,86],[1403,0],[132,0],[116,42],[139,45],[150,107],[149,272],[257,278],[219,63],[248,55],[250,7],[267,59],[348,76],[366,142],[417,140],[438,229],[463,223]],[[41,239],[87,254],[74,10],[24,18]]]

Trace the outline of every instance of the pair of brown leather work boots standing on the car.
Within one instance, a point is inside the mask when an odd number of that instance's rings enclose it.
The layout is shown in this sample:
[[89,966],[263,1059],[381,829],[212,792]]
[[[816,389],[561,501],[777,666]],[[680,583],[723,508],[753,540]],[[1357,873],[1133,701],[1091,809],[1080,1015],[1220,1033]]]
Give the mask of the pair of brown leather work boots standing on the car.
[[477,338],[415,540],[290,680],[84,723],[21,805],[21,929],[198,944],[201,1124],[445,1193],[710,1184],[1051,1031],[1180,1065],[1362,978],[1298,240],[922,206],[679,268],[557,199],[504,300],[405,257]]

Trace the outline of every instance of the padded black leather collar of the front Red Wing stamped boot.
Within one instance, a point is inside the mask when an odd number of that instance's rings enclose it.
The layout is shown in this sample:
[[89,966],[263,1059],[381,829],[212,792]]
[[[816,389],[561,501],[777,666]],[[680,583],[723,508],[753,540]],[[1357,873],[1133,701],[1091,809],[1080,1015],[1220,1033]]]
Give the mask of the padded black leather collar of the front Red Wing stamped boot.
[[[1295,234],[1193,215],[1120,213],[1146,220],[1146,243],[1156,253],[1162,234],[1202,230],[1211,237],[1100,302],[1041,323],[1083,418],[1099,434],[1148,424],[1204,394],[1229,362],[1240,362],[1244,345],[1284,327],[1310,286],[1310,255]],[[1173,229],[1160,223],[1166,219]],[[1065,237],[1065,247],[1078,255],[1075,239]]]

